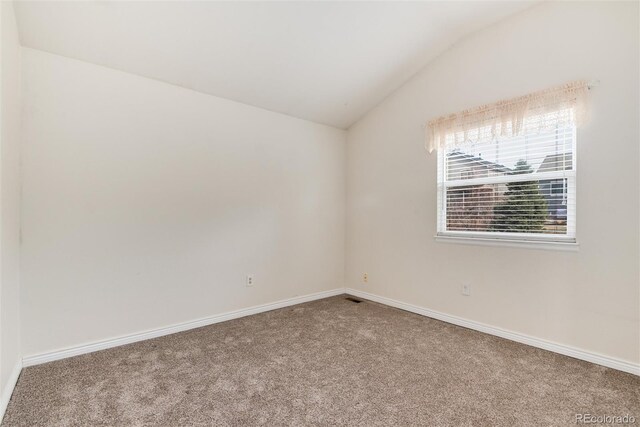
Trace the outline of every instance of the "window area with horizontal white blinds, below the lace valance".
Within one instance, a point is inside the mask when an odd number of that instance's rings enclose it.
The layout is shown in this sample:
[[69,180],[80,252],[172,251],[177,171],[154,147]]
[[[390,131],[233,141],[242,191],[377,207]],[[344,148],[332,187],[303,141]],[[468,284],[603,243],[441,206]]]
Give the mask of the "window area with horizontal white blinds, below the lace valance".
[[439,150],[439,235],[575,241],[575,126],[528,129]]

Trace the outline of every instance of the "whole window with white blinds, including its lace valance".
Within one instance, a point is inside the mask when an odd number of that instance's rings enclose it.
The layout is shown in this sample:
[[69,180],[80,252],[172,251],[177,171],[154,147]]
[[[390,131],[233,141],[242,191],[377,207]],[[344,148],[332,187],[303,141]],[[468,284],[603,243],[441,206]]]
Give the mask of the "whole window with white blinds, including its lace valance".
[[438,235],[574,242],[584,81],[430,121]]

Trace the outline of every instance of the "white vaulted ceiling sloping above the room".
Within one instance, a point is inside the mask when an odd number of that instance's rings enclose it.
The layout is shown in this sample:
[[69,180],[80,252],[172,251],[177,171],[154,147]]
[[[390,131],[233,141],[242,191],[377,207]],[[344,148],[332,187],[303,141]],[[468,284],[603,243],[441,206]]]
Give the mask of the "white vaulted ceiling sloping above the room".
[[532,2],[30,2],[23,46],[348,128],[465,35]]

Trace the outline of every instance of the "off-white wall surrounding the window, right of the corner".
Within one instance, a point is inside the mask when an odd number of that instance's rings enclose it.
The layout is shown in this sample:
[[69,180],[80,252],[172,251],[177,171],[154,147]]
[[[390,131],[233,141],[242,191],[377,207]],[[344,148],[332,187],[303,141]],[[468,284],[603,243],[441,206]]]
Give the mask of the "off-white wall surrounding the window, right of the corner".
[[[543,3],[464,39],[368,113],[348,133],[347,286],[638,363],[638,40],[637,2]],[[601,85],[578,130],[579,252],[434,242],[437,156],[422,124],[582,78]]]

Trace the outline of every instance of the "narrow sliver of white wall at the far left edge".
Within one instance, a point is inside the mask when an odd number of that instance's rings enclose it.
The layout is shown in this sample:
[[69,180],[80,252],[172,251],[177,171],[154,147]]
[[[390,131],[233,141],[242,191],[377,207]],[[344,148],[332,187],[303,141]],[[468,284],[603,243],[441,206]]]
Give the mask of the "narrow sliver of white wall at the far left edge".
[[[0,405],[8,402],[21,361],[20,46],[13,3],[0,4]],[[1,414],[4,408],[0,408]]]

